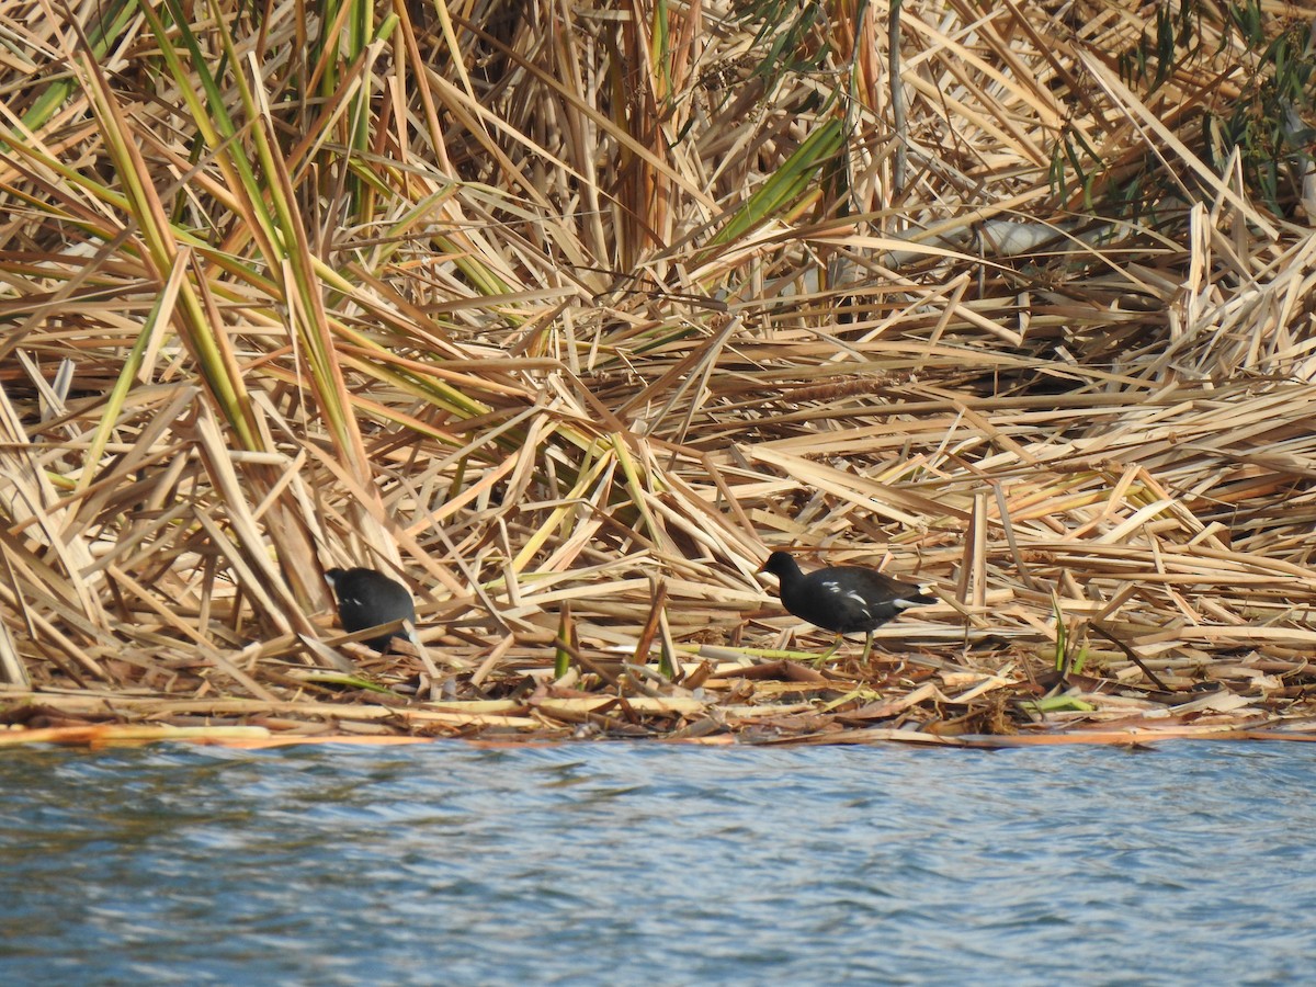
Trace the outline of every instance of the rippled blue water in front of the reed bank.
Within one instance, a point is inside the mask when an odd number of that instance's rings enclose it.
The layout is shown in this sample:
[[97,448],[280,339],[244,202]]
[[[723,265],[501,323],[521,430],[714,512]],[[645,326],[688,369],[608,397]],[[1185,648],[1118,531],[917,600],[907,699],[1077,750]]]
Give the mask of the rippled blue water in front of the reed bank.
[[0,983],[1273,984],[1316,746],[0,757]]

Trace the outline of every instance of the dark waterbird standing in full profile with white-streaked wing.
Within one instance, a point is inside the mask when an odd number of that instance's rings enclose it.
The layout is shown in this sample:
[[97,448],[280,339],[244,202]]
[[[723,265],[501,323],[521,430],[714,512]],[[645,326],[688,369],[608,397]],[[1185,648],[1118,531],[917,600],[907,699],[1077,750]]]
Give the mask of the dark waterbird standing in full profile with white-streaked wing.
[[875,569],[862,566],[828,566],[805,575],[795,557],[774,551],[763,563],[763,571],[775,575],[782,584],[782,605],[800,620],[836,633],[836,644],[819,661],[824,661],[841,646],[841,634],[869,636],[863,646],[863,659],[873,650],[873,632],[900,611],[936,603],[912,583],[901,583]]

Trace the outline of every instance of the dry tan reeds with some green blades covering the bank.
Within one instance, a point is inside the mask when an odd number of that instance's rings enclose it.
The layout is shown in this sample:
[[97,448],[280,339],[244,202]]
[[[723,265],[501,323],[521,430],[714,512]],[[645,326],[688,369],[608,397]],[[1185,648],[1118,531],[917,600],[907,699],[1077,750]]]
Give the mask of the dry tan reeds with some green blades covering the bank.
[[[0,14],[0,746],[1316,736],[1288,8],[70,9]],[[938,603],[816,669],[775,549]]]

